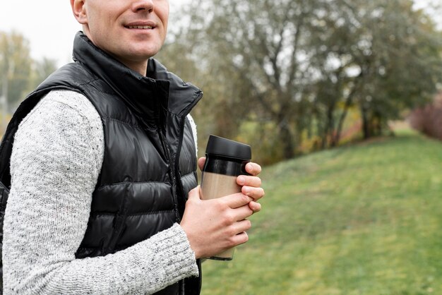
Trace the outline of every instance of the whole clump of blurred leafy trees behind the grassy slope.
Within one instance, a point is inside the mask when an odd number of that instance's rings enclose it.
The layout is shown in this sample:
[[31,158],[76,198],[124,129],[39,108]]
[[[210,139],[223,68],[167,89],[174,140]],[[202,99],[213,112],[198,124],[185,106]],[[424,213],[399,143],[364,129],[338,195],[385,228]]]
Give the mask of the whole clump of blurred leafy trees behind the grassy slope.
[[380,134],[442,77],[441,35],[410,0],[194,0],[186,8],[167,64],[176,60],[203,86],[198,121],[222,136],[252,134],[272,161],[297,155],[308,138],[338,145],[350,109],[359,109],[364,137]]

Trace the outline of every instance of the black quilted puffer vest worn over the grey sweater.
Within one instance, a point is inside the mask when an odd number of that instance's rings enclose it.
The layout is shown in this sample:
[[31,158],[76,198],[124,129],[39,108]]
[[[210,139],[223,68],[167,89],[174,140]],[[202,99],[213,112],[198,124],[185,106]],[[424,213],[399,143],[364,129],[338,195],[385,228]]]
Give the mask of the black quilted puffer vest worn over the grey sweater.
[[[81,32],[74,40],[73,58],[75,63],[49,76],[14,114],[0,147],[0,176],[8,188],[11,176],[4,162],[9,163],[13,134],[41,97],[54,89],[88,97],[102,119],[105,145],[88,229],[76,252],[77,258],[86,258],[121,251],[181,221],[187,195],[197,185],[196,148],[186,116],[202,92],[154,59],[143,77]],[[6,198],[0,208],[1,229]],[[157,294],[199,294],[200,278]]]

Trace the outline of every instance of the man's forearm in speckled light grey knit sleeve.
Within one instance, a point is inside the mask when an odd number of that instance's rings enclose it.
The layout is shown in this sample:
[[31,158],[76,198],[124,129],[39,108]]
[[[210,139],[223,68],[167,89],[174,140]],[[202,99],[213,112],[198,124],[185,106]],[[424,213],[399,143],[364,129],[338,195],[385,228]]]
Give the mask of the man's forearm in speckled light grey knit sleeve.
[[17,294],[153,294],[198,275],[178,224],[113,255],[36,265]]

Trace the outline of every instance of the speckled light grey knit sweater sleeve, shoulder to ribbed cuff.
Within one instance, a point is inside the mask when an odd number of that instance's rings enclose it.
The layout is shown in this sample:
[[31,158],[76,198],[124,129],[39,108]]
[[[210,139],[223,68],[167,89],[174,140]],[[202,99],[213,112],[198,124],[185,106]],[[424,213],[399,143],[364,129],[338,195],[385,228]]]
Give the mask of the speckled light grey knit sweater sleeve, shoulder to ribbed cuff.
[[124,251],[76,259],[103,152],[100,116],[76,92],[49,92],[20,124],[4,220],[5,294],[153,294],[198,275],[179,224]]

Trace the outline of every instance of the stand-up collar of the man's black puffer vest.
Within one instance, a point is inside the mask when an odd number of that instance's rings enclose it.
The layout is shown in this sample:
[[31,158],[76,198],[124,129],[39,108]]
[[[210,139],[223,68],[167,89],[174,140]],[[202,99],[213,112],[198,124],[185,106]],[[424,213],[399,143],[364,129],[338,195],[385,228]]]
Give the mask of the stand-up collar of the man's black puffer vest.
[[155,59],[149,59],[147,75],[142,76],[96,47],[83,32],[74,39],[73,60],[104,80],[146,121],[165,111],[186,116],[203,96],[196,86],[184,83]]

